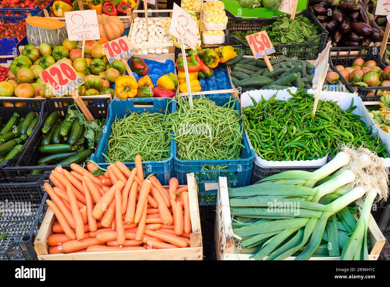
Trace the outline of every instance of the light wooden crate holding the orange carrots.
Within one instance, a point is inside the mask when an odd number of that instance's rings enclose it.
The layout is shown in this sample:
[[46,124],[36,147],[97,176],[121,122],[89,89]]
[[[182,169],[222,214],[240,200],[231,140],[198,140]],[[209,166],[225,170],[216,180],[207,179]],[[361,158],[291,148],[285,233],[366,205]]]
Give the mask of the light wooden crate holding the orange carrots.
[[192,225],[192,234],[190,236],[191,247],[169,250],[160,249],[49,254],[47,239],[51,234],[53,234],[53,224],[57,220],[53,210],[49,207],[34,241],[34,249],[37,253],[38,260],[202,260],[202,233],[200,230],[197,184],[194,174],[187,174],[187,180]]

